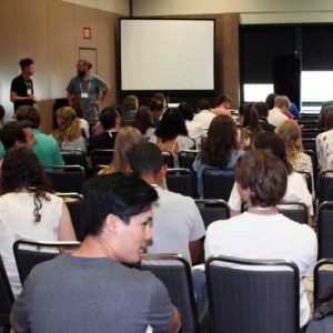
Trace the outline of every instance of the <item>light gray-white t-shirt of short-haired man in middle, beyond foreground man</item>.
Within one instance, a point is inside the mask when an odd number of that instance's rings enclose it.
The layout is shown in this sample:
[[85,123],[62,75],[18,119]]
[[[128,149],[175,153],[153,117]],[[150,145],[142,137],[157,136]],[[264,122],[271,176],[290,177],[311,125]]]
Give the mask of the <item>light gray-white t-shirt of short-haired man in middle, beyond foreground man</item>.
[[152,245],[148,253],[180,253],[191,263],[189,243],[204,236],[205,229],[194,200],[155,186]]

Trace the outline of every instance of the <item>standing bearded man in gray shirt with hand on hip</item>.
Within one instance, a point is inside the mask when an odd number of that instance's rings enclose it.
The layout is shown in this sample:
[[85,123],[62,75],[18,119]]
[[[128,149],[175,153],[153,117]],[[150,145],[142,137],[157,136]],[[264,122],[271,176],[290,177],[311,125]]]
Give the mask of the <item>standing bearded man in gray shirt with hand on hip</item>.
[[72,107],[74,101],[81,101],[84,105],[83,118],[98,120],[99,105],[104,101],[109,91],[109,83],[98,75],[91,74],[92,64],[87,60],[79,60],[78,74],[73,77],[68,87],[68,103]]

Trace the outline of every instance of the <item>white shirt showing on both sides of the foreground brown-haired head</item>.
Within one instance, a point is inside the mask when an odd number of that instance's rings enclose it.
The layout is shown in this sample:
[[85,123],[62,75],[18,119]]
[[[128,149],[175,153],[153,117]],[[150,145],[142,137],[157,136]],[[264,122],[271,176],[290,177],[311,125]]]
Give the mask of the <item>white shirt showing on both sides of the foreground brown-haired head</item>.
[[[282,200],[304,202],[307,206],[309,213],[313,215],[312,195],[309,192],[306,181],[301,173],[292,172],[287,175],[286,192]],[[241,210],[242,199],[236,182],[233,184],[228,204],[234,211]]]

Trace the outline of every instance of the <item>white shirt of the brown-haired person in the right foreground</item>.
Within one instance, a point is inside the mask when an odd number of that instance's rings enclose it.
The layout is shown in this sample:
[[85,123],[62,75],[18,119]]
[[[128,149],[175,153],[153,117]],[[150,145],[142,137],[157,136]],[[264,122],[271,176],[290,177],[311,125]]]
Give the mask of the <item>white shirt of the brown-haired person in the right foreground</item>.
[[[253,260],[291,260],[300,269],[300,279],[312,276],[317,256],[314,231],[282,214],[259,215],[245,212],[208,228],[205,258],[213,254]],[[300,322],[311,317],[311,309],[301,283]]]

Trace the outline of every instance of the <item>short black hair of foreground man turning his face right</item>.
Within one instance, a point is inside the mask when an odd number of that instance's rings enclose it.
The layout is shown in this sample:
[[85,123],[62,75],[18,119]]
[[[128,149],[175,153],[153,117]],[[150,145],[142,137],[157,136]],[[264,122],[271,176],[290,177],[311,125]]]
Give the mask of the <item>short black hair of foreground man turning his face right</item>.
[[124,223],[148,211],[159,198],[153,186],[132,173],[115,172],[91,178],[83,185],[83,235],[99,235],[109,214]]

